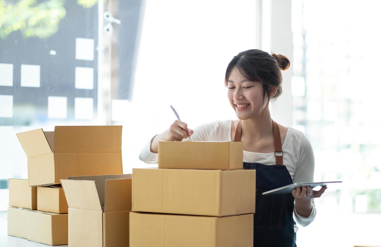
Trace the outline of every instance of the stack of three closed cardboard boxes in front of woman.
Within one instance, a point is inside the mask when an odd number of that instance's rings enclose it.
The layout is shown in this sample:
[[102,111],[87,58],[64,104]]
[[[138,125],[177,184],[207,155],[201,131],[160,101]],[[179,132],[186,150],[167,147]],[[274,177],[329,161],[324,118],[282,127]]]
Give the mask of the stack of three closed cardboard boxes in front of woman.
[[158,168],[134,168],[131,247],[253,246],[255,170],[242,142],[159,141]]

